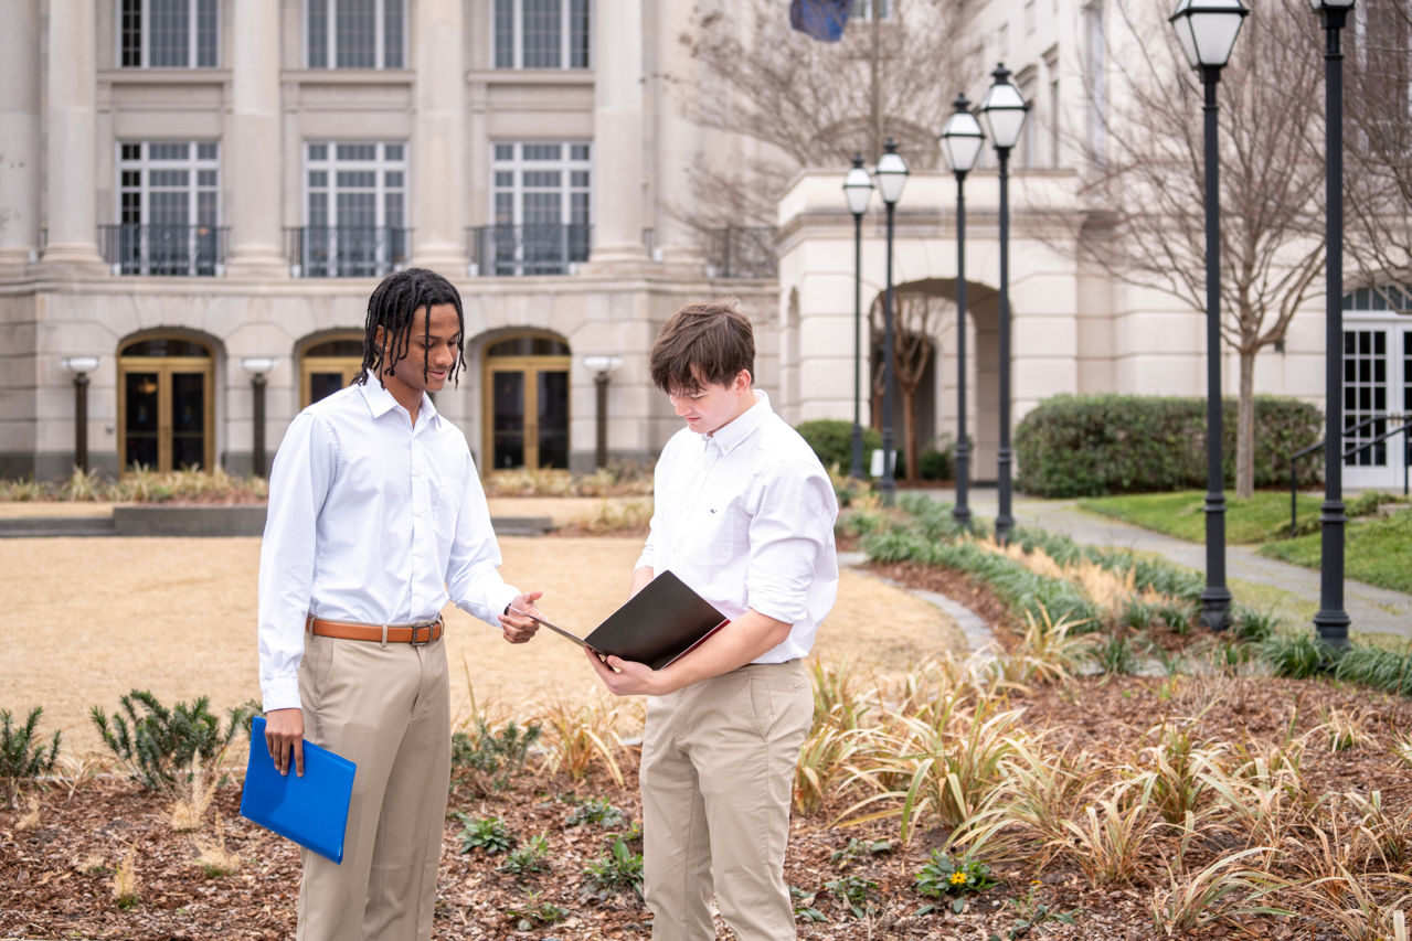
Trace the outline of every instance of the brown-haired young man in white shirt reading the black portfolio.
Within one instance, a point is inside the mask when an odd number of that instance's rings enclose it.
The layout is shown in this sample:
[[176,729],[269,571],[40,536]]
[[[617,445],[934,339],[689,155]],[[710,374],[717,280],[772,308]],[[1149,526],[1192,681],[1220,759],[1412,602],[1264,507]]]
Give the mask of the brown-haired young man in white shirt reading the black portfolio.
[[640,780],[652,938],[712,941],[714,892],[738,941],[788,940],[789,801],[813,718],[802,659],[837,595],[839,504],[753,388],[754,332],[734,303],[672,315],[651,370],[686,427],[657,463],[631,591],[672,571],[731,619],[661,670],[589,655],[613,693],[651,697]]

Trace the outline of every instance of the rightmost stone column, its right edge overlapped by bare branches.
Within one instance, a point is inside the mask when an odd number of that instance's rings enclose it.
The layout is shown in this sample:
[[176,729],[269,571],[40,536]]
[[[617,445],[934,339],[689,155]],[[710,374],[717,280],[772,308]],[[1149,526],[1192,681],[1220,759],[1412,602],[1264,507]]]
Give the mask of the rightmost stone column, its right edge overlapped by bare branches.
[[692,168],[702,152],[702,128],[685,109],[700,95],[700,66],[681,37],[695,27],[690,4],[657,4],[657,244],[668,265],[686,265],[700,275],[706,262],[700,234],[688,220],[698,216]]

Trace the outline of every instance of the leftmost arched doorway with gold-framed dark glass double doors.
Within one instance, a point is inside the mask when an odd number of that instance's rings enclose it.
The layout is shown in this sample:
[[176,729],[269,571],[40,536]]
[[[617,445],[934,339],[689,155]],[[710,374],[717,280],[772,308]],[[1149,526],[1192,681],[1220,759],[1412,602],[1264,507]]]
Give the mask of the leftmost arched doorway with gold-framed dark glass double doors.
[[203,343],[154,336],[123,344],[117,354],[120,467],[215,467],[215,358]]

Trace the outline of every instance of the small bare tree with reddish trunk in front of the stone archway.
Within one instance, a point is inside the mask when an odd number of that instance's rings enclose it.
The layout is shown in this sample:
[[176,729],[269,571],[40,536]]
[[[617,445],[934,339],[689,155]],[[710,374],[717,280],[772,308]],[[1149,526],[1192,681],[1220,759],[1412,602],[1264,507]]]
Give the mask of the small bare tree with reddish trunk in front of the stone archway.
[[[868,332],[873,347],[881,350],[887,343],[882,323],[882,295],[878,295],[868,309]],[[905,480],[922,480],[921,442],[916,432],[916,391],[932,361],[932,334],[947,312],[956,310],[956,303],[923,291],[895,291],[892,293],[892,377],[897,391],[902,394],[902,453],[907,459]],[[873,423],[881,427],[882,419],[882,358],[873,364]]]

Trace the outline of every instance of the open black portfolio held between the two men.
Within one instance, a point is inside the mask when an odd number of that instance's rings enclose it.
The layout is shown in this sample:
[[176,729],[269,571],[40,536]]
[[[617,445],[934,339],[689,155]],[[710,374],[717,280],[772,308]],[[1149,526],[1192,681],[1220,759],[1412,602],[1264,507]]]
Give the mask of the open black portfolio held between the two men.
[[525,617],[594,653],[645,663],[654,670],[661,670],[689,653],[702,641],[730,624],[726,615],[671,571],[652,578],[586,638],[542,618]]

